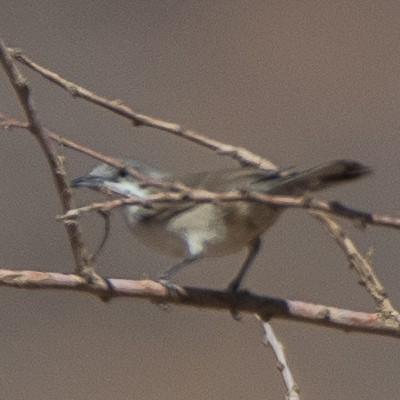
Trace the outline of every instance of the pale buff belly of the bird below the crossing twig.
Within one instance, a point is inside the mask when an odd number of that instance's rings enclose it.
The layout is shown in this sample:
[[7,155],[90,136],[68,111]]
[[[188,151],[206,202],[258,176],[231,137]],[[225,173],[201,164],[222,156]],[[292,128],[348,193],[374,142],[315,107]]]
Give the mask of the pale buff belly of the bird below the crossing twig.
[[127,220],[130,231],[158,253],[179,258],[197,254],[217,257],[248,246],[280,213],[278,208],[241,202],[239,208],[237,203],[198,205],[166,221],[128,216]]

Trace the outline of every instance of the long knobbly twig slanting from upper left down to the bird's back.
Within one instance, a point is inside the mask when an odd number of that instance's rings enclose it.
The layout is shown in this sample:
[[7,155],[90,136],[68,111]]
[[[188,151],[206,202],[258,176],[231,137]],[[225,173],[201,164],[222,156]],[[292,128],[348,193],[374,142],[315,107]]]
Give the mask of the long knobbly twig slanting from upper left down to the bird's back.
[[44,78],[50,80],[59,87],[67,90],[72,96],[88,100],[91,103],[104,107],[122,117],[128,118],[134,123],[135,126],[147,126],[162,130],[164,132],[172,133],[178,137],[190,140],[191,142],[211,149],[217,154],[231,157],[243,165],[253,165],[262,169],[276,169],[275,164],[273,164],[271,161],[266,160],[247,149],[232,146],[230,144],[208,138],[193,130],[184,129],[175,123],[149,117],[144,114],[139,114],[130,107],[123,105],[120,100],[108,100],[91,92],[88,89],[83,88],[82,86],[77,85],[76,83],[67,81],[57,73],[50,71],[49,69],[44,68],[43,66],[34,62],[32,59],[24,55],[20,49],[10,48],[9,51],[16,60],[38,72]]

